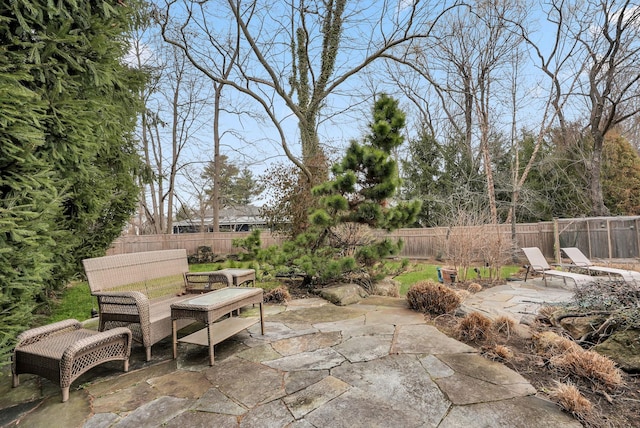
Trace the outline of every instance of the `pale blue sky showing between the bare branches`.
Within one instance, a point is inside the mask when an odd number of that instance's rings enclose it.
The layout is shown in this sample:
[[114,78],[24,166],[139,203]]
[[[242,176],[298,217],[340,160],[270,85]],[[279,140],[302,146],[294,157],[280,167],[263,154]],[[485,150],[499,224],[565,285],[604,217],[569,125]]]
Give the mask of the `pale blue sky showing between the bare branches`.
[[[164,2],[159,1],[159,5],[163,5]],[[271,63],[275,64],[274,70],[277,74],[277,78],[284,82],[285,89],[288,89],[286,84],[287,73],[291,71],[290,58],[291,54],[288,47],[290,28],[284,25],[284,20],[281,19],[283,14],[288,13],[286,9],[286,3],[267,0],[259,0],[258,7],[256,9],[257,15],[249,24],[248,27],[252,32],[257,43],[262,44],[263,47],[269,47],[264,49],[263,52],[267,52],[270,55],[267,59]],[[527,2],[506,2],[507,5],[525,4]],[[177,2],[173,6],[172,16],[175,19],[180,20],[185,16],[184,5],[196,5],[198,3],[186,1]],[[190,21],[189,31],[193,40],[190,42],[189,47],[191,52],[197,56],[198,61],[202,64],[206,64],[209,70],[216,70],[222,63],[221,56],[212,50],[215,47],[223,45],[221,40],[225,39],[225,33],[227,30],[232,32],[235,27],[231,25],[233,21],[230,19],[228,12],[225,12],[225,2],[202,2],[203,9],[197,10],[197,14]],[[311,9],[313,2],[308,2],[307,5]],[[404,24],[407,25],[408,11],[410,10],[410,0],[399,0],[396,3],[389,2],[389,9],[385,13],[385,19],[376,25],[375,21],[370,23],[363,21],[361,17],[375,19],[378,13],[380,13],[380,5],[386,4],[382,2],[370,2],[367,1],[354,1],[349,3],[349,10],[346,15],[356,16],[358,21],[345,21],[345,29],[343,32],[343,44],[337,60],[338,74],[354,64],[357,64],[359,59],[365,55],[368,49],[371,49],[370,40],[372,37],[390,36],[390,30],[392,28],[394,19],[404,19]],[[427,5],[429,2],[421,2],[421,5]],[[528,2],[532,9],[530,11],[527,24],[532,28],[536,28],[534,39],[539,42],[543,51],[548,52],[551,45],[548,42],[549,36],[553,35],[553,31],[548,26],[545,26],[545,14],[539,9],[540,3]],[[442,8],[446,5],[443,2],[433,2],[433,5]],[[480,10],[482,3],[476,3],[476,9]],[[215,6],[214,9],[207,9],[208,6]],[[537,9],[536,9],[537,8]],[[257,19],[260,18],[260,19]],[[184,22],[184,21],[183,21]],[[205,27],[204,24],[207,24]],[[299,22],[296,25],[300,24]],[[400,28],[403,28],[402,26]],[[313,66],[315,66],[316,72],[319,64],[317,54],[314,56],[314,52],[317,52],[317,46],[319,46],[319,32],[317,25],[309,25],[308,27],[312,38],[310,39],[310,46],[316,51],[312,51]],[[213,36],[210,39],[204,37],[206,32],[210,31]],[[215,34],[213,34],[215,33]],[[445,33],[446,34],[446,31]],[[373,36],[372,36],[373,35]],[[477,40],[482,41],[481,35],[476,35]],[[151,33],[145,37],[151,37]],[[155,34],[157,37],[157,34]],[[157,43],[157,42],[156,42]],[[157,60],[157,52],[150,46],[156,46],[147,39],[143,47],[143,58],[147,61]],[[243,52],[247,52],[248,47],[246,43],[242,44]],[[212,53],[213,52],[213,53]],[[526,57],[526,64],[519,69],[519,78],[522,80],[524,86],[520,89],[520,99],[518,103],[519,127],[520,128],[532,128],[539,127],[539,121],[541,119],[540,111],[540,98],[544,98],[548,90],[548,82],[546,82],[541,75],[540,71],[536,68],[535,56],[527,53],[523,53]],[[433,59],[433,58],[432,58]],[[264,70],[260,69],[260,66],[255,62],[243,63],[246,66],[248,73],[256,78],[268,80],[268,76]],[[278,74],[279,73],[279,74]],[[386,73],[386,74],[385,74]],[[366,126],[369,120],[369,112],[373,104],[372,96],[380,92],[393,93],[393,82],[388,76],[389,71],[381,64],[374,64],[367,67],[363,73],[348,79],[342,84],[338,90],[330,97],[326,99],[323,105],[323,112],[331,113],[324,116],[324,120],[318,125],[318,134],[321,141],[326,144],[326,147],[331,150],[330,156],[336,158],[339,157],[342,149],[346,146],[349,140],[353,138],[360,138],[364,132],[366,132]],[[509,88],[505,82],[508,82],[508,78],[511,76],[499,76],[502,80],[497,82],[493,88],[494,93],[498,94],[502,91],[501,97],[495,98],[495,104],[491,106],[493,114],[493,123],[498,130],[506,130],[510,127],[511,116],[507,114],[511,106],[508,101]],[[567,72],[567,78],[572,77],[571,72]],[[201,79],[201,77],[200,77]],[[210,82],[204,80],[204,88],[199,95],[202,99],[210,101]],[[526,83],[526,84],[525,84]],[[428,85],[424,85],[425,100],[435,102],[433,94],[430,93]],[[502,86],[500,86],[502,85]],[[285,106],[282,100],[274,96],[273,92],[269,92],[268,85],[252,85],[252,89],[255,91],[261,91],[264,98],[271,103],[272,112],[281,124],[286,136],[287,142],[290,145],[292,152],[299,156],[300,146],[298,144],[299,131],[297,119],[291,113],[291,110]],[[277,132],[272,123],[264,117],[264,112],[256,107],[256,103],[245,95],[240,95],[238,91],[232,88],[227,88],[224,91],[224,111],[222,112],[222,139],[221,139],[221,152],[227,155],[231,160],[237,162],[242,167],[248,167],[254,173],[254,176],[260,176],[264,174],[269,165],[274,162],[288,162],[281,144]],[[185,95],[186,99],[186,95]],[[158,111],[162,112],[163,117],[170,117],[168,106],[170,105],[170,99],[166,96],[158,95],[155,97],[154,103],[152,103]],[[401,99],[401,107],[405,109],[409,116],[409,126],[407,127],[408,135],[415,135],[416,133],[416,109],[406,98]],[[236,114],[238,111],[242,114]],[[442,113],[438,109],[432,110],[435,114]],[[335,114],[334,114],[335,113]],[[193,171],[195,171],[199,165],[204,165],[206,162],[213,158],[213,138],[212,138],[212,117],[213,113],[210,107],[205,107],[194,118],[192,123],[191,133],[188,136],[188,143],[185,146],[185,151],[182,154],[183,161],[189,165]],[[167,120],[167,119],[165,119]],[[163,138],[168,135],[168,128],[165,127],[161,130],[163,132]],[[166,154],[166,150],[165,150]],[[192,175],[196,174],[192,171]],[[197,175],[197,174],[196,174]],[[179,192],[184,201],[191,204],[193,199],[191,193],[193,190],[193,184],[184,179],[184,176],[180,177]],[[264,200],[257,201],[258,204],[264,202]]]

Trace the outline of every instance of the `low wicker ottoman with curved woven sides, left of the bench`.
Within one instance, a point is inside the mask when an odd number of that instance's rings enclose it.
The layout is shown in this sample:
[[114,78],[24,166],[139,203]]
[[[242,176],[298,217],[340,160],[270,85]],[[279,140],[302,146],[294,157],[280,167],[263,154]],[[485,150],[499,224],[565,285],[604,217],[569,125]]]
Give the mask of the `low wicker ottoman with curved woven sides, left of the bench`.
[[82,328],[77,320],[65,320],[27,330],[18,336],[11,372],[13,387],[18,375],[31,373],[60,385],[62,402],[69,399],[69,387],[81,374],[107,361],[124,361],[129,370],[131,331],[118,327],[104,332]]

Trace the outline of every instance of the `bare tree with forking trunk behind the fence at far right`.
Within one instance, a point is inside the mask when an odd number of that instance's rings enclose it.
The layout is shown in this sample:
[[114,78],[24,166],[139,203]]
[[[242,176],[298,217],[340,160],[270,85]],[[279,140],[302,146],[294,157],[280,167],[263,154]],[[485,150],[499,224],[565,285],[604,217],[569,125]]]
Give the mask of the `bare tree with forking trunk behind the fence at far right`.
[[[604,137],[640,112],[640,7],[630,0],[554,0],[546,12],[546,24],[555,33],[549,53],[523,34],[552,85],[549,123],[557,118],[564,138],[570,138],[566,116],[587,118],[593,144],[585,158],[591,210],[606,215],[600,178]],[[546,132],[540,130],[539,141]]]

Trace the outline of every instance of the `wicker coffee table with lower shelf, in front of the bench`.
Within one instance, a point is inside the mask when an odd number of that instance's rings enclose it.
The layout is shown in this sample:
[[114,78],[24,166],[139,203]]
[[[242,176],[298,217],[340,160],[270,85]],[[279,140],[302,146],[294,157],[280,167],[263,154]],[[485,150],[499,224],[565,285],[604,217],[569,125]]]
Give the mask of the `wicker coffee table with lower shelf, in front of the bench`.
[[[216,343],[220,343],[258,322],[255,317],[233,316],[233,311],[239,312],[240,308],[247,305],[260,304],[260,331],[264,334],[263,293],[262,288],[229,287],[172,304],[173,358],[178,357],[178,341],[194,343],[209,347],[209,364],[213,365],[213,347]],[[215,322],[225,315],[228,315],[228,318]],[[200,321],[206,327],[178,340],[177,320],[183,318]]]

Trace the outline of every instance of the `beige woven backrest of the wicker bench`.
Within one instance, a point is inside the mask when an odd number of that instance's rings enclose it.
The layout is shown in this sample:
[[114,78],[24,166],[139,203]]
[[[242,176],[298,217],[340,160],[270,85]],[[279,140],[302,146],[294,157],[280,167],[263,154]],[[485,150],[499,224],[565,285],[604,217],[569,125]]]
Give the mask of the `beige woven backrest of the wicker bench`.
[[92,293],[141,291],[149,298],[184,289],[187,250],[146,251],[82,261]]

